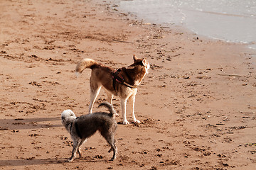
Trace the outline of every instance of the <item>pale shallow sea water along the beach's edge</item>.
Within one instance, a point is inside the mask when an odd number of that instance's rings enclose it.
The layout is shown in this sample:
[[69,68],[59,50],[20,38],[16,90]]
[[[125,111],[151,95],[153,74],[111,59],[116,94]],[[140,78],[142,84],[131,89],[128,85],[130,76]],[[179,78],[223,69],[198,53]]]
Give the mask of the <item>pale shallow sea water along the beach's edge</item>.
[[182,25],[198,35],[256,49],[256,0],[121,0],[144,21]]

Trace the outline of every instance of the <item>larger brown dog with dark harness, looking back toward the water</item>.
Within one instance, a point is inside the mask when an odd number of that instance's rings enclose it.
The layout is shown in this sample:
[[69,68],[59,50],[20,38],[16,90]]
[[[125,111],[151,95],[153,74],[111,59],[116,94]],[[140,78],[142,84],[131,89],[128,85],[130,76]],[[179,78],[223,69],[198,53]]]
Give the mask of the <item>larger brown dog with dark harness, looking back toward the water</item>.
[[104,64],[95,62],[92,59],[84,59],[80,61],[75,68],[76,73],[82,73],[86,68],[92,69],[90,77],[90,106],[89,113],[92,113],[92,106],[100,92],[101,87],[107,92],[107,101],[112,103],[113,96],[121,98],[121,108],[123,123],[129,124],[126,118],[127,100],[132,109],[132,118],[134,123],[140,123],[134,115],[135,95],[137,94],[137,86],[149,70],[149,62],[146,59],[138,59],[133,57],[134,64],[127,68],[122,67],[117,71]]

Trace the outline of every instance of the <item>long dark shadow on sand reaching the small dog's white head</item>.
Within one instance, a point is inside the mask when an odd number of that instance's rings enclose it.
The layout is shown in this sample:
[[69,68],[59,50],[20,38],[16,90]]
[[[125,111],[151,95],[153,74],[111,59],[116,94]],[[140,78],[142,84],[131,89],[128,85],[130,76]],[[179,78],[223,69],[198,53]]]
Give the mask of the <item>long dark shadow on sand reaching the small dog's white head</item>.
[[[58,121],[58,124],[55,123]],[[0,119],[0,130],[23,130],[62,127],[61,118],[13,118]]]

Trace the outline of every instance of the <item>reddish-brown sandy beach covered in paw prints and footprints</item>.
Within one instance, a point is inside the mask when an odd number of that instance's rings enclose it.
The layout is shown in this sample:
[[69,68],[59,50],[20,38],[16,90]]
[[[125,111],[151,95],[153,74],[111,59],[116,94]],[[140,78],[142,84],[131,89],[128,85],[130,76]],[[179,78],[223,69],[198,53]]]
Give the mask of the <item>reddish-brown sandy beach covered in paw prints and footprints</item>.
[[[0,169],[255,169],[255,51],[137,21],[108,1],[3,0],[0,11]],[[118,69],[134,54],[151,64],[135,102],[142,123],[128,112],[131,124],[118,125],[114,162],[99,133],[66,162],[60,113],[90,103],[90,69],[76,77],[75,65]]]

